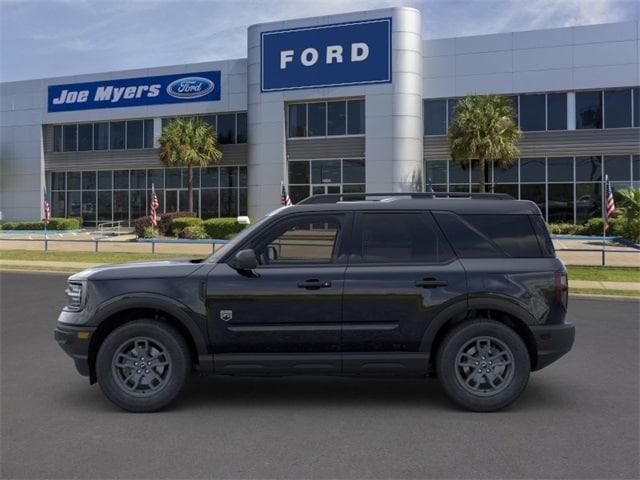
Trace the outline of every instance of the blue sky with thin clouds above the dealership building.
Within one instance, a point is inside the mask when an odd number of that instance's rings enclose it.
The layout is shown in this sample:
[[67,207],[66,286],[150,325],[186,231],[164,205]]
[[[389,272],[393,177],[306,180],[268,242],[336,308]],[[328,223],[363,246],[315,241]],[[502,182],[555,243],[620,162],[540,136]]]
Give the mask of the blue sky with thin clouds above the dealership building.
[[0,0],[0,81],[243,58],[254,23],[399,5],[424,38],[640,15],[640,0]]

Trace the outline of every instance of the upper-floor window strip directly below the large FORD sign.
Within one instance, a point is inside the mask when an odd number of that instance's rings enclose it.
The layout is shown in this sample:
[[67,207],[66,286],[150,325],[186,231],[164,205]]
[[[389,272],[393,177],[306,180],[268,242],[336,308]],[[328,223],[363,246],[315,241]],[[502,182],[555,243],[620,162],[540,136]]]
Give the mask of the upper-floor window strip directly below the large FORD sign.
[[364,100],[291,103],[287,105],[289,138],[363,135]]

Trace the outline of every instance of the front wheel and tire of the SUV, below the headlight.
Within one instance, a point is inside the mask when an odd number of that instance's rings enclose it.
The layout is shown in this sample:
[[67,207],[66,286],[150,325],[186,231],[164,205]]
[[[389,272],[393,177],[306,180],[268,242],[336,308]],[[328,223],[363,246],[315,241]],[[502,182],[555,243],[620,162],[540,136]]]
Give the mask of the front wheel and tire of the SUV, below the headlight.
[[171,403],[190,371],[184,337],[157,320],[141,319],[116,328],[100,345],[96,359],[100,388],[130,412],[154,412]]

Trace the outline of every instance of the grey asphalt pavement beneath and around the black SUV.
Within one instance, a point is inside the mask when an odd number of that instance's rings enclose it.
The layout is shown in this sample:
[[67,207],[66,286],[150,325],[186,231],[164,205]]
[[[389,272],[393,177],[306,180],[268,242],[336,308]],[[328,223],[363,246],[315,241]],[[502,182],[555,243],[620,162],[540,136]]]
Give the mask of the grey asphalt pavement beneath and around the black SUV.
[[420,379],[193,377],[118,410],[53,340],[64,275],[0,272],[2,478],[638,478],[639,303],[572,300],[574,350],[507,411]]

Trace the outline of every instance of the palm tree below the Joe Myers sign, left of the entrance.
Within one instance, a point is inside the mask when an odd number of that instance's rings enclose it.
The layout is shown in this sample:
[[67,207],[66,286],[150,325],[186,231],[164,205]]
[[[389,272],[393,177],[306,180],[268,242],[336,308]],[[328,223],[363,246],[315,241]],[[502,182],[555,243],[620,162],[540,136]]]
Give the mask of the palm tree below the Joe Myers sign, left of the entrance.
[[222,160],[216,131],[200,119],[176,118],[162,130],[160,161],[167,167],[187,167],[189,211],[193,212],[193,167],[216,165]]

